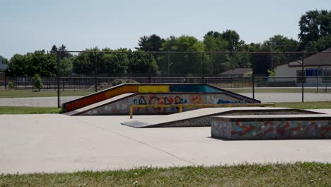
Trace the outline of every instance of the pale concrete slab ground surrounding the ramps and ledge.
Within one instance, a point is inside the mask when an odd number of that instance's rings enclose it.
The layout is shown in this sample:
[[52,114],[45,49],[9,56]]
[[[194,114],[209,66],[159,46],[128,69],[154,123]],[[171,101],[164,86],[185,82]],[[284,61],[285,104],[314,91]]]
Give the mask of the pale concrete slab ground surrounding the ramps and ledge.
[[[331,110],[324,110],[331,113]],[[211,128],[130,128],[156,115],[0,115],[0,173],[331,162],[331,140],[224,141]]]

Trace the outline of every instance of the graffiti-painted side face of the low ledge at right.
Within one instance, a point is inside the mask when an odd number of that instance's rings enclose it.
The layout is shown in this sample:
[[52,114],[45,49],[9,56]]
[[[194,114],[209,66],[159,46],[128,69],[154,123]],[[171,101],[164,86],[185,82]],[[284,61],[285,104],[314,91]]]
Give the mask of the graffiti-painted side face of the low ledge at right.
[[[258,117],[257,117],[258,118]],[[213,118],[213,137],[228,140],[331,138],[331,120],[228,120]]]

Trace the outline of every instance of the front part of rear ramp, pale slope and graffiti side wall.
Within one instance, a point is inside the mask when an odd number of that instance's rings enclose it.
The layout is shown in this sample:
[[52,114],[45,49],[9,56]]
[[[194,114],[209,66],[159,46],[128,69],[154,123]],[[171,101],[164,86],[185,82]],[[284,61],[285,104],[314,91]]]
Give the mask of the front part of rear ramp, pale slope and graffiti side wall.
[[[121,94],[105,101],[94,103],[90,106],[69,112],[71,115],[129,115],[130,106],[141,106],[133,108],[134,115],[167,115],[180,112],[180,105],[192,105],[182,107],[182,111],[192,111],[202,108],[201,105],[212,104],[221,107],[219,104],[249,103],[226,93],[130,93]],[[170,107],[162,107],[164,105]],[[175,106],[171,106],[175,105]],[[204,107],[205,108],[205,107]]]

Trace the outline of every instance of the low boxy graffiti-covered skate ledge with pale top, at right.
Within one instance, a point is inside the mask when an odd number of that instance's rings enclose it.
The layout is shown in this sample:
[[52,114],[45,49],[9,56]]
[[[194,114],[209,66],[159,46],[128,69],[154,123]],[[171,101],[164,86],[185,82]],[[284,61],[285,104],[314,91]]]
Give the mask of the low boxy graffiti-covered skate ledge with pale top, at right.
[[214,116],[211,137],[226,140],[330,139],[331,115]]

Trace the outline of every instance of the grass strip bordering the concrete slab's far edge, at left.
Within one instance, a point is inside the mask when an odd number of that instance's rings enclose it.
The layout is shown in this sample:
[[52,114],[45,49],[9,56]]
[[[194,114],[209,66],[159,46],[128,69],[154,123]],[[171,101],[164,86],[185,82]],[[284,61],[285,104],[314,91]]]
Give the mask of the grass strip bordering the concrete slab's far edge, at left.
[[61,108],[55,107],[0,106],[0,114],[59,113],[60,111]]

